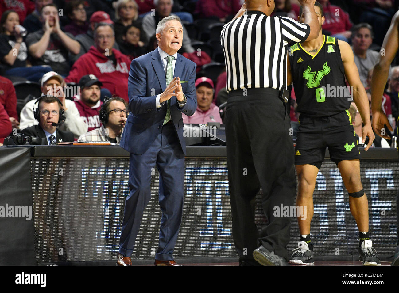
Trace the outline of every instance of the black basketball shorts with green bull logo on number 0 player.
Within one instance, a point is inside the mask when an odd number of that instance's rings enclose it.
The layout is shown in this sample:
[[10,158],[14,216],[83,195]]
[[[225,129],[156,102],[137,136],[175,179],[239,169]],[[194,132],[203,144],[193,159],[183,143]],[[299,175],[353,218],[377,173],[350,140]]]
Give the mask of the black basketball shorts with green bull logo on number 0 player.
[[326,147],[337,165],[342,160],[361,158],[348,110],[327,117],[300,114],[299,121],[295,165],[310,164],[320,169]]

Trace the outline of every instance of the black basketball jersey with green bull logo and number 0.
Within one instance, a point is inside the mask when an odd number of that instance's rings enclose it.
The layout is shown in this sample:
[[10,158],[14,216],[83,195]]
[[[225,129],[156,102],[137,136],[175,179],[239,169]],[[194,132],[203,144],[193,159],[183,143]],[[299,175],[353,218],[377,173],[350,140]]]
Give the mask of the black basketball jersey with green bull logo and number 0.
[[289,49],[298,112],[313,117],[332,116],[349,109],[350,88],[345,83],[338,40],[323,35],[323,44],[312,56],[300,43]]

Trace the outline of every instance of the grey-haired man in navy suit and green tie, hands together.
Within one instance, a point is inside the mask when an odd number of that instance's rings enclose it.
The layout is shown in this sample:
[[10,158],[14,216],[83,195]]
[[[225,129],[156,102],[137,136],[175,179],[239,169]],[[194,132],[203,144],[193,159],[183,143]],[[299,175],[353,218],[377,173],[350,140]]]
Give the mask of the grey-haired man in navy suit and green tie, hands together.
[[159,170],[162,219],[155,265],[177,265],[173,250],[183,211],[184,155],[182,113],[197,108],[196,64],[177,51],[182,47],[180,18],[168,16],[157,25],[158,48],[130,64],[130,114],[120,141],[129,151],[129,187],[119,241],[117,265],[132,265],[143,210],[150,201],[151,168]]

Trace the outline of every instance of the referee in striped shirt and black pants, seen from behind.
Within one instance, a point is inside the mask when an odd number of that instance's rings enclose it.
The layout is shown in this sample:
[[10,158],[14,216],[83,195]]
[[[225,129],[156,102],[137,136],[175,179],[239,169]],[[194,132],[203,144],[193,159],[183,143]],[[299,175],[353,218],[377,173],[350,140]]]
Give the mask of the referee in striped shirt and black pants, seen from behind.
[[[221,45],[227,71],[227,168],[233,238],[240,265],[287,265],[290,217],[282,206],[295,197],[294,148],[286,95],[288,42],[315,39],[315,0],[298,0],[305,24],[270,17],[274,0],[246,0],[223,27]],[[256,195],[268,224],[255,225]],[[276,215],[276,216],[275,216]],[[256,262],[258,261],[258,262]]]

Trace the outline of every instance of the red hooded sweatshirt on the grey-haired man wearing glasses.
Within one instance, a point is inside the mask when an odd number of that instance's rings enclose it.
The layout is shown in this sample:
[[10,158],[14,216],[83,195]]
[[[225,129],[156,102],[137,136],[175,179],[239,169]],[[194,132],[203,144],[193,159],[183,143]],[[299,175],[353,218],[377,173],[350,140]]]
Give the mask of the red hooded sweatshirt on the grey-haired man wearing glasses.
[[75,61],[65,81],[67,83],[78,83],[83,75],[94,74],[103,83],[103,87],[107,88],[111,94],[116,94],[126,100],[126,102],[129,102],[127,82],[130,59],[117,49],[112,49],[112,53],[117,60],[116,66],[111,59],[101,54],[94,46],[91,46],[89,52],[83,54]]

